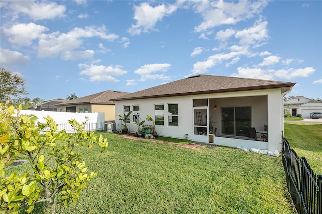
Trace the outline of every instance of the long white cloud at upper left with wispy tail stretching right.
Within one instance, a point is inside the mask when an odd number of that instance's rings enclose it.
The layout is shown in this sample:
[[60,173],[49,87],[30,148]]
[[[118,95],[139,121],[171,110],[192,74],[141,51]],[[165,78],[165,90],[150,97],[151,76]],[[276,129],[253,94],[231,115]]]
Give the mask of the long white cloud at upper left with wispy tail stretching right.
[[104,26],[74,28],[68,33],[42,34],[38,42],[38,56],[41,58],[60,56],[64,60],[91,58],[94,54],[93,51],[75,51],[83,44],[83,38],[91,37],[99,37],[108,41],[114,41],[118,38],[116,34],[108,34]]

